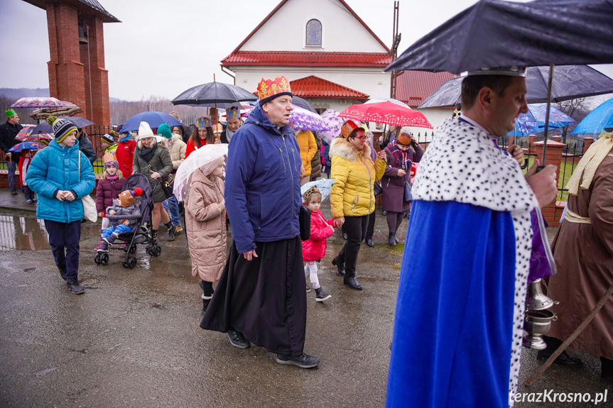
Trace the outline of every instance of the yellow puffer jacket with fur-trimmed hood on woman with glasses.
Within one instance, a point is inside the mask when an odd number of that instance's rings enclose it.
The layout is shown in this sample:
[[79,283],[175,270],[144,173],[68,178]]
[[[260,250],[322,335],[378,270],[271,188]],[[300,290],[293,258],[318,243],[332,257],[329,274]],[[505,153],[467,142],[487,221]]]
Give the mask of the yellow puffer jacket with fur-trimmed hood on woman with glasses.
[[330,178],[336,179],[330,190],[332,217],[364,216],[374,211],[373,186],[384,175],[385,160],[372,162],[369,145],[358,152],[342,137],[332,140],[330,158]]

